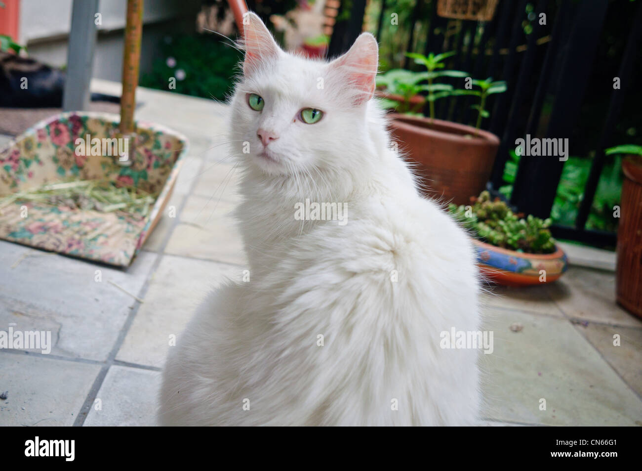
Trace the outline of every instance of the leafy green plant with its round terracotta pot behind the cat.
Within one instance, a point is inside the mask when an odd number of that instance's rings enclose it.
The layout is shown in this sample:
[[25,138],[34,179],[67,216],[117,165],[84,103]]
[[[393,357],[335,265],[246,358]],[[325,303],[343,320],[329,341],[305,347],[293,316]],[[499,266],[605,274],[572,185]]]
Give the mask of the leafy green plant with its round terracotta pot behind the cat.
[[[491,94],[506,91],[505,82],[469,80],[475,89],[455,89],[437,83],[442,77],[468,76],[464,71],[445,70],[444,60],[454,53],[408,53],[426,71],[412,72],[393,69],[377,78],[377,86],[385,87],[383,104],[395,109],[391,114],[392,134],[403,143],[404,150],[419,163],[418,172],[426,187],[455,204],[464,204],[470,195],[478,195],[486,186],[499,148],[499,138],[481,130],[485,109]],[[421,93],[426,93],[423,96]],[[469,95],[479,98],[473,105],[477,112],[476,127],[435,119],[435,102],[451,96]],[[429,117],[418,116],[428,102]]]

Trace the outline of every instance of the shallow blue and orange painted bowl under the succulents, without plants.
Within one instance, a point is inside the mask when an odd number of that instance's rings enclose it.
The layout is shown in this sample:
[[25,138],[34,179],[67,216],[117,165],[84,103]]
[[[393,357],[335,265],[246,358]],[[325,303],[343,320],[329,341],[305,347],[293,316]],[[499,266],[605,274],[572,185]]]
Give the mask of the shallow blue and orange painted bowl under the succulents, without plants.
[[477,265],[482,274],[506,286],[542,285],[557,280],[568,268],[566,254],[559,247],[550,254],[529,254],[502,249],[473,239]]

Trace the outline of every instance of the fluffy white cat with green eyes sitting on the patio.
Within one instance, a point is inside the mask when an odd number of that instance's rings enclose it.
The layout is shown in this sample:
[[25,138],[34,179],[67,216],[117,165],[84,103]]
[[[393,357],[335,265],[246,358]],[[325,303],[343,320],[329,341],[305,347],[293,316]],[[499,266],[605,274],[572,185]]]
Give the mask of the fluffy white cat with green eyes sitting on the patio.
[[[160,422],[474,423],[478,351],[440,347],[442,332],[479,328],[473,247],[391,148],[372,100],[376,40],[321,62],[246,22],[231,136],[250,282],[196,311],[169,355]],[[347,214],[301,220],[306,199]]]

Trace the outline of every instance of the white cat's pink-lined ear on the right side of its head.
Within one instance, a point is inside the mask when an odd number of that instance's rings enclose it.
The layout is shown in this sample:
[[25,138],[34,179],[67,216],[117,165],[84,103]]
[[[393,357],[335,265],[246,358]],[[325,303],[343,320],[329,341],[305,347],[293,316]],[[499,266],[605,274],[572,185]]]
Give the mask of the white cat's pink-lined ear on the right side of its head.
[[367,102],[374,94],[374,82],[379,67],[379,47],[370,33],[361,33],[347,53],[330,63],[338,71],[356,96],[353,103]]

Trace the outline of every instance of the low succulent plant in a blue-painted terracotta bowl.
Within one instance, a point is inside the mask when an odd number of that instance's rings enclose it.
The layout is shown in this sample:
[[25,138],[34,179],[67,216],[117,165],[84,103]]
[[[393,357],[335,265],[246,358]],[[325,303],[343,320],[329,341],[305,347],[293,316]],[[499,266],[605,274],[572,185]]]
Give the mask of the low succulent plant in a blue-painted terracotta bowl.
[[456,220],[471,231],[477,262],[484,276],[508,286],[540,285],[557,280],[568,260],[555,245],[548,227],[550,219],[515,214],[488,191],[471,198],[471,205],[450,204]]

